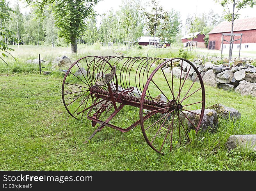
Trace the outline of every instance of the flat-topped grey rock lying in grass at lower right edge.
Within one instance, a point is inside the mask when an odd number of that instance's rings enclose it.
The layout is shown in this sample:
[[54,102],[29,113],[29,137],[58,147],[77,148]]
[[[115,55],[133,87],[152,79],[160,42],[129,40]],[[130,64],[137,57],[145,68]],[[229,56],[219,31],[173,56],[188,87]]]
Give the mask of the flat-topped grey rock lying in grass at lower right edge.
[[231,135],[227,139],[227,147],[231,150],[236,147],[256,151],[256,135]]

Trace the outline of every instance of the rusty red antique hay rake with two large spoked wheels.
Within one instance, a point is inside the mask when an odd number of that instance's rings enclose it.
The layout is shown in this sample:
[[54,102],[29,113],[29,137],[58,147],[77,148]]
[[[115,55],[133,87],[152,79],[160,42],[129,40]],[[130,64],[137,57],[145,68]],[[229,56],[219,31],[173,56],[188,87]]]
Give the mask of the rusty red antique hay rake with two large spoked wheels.
[[140,125],[147,144],[159,153],[190,141],[205,110],[200,73],[183,58],[80,58],[65,74],[62,99],[72,117],[92,121],[86,142],[106,126],[127,132]]

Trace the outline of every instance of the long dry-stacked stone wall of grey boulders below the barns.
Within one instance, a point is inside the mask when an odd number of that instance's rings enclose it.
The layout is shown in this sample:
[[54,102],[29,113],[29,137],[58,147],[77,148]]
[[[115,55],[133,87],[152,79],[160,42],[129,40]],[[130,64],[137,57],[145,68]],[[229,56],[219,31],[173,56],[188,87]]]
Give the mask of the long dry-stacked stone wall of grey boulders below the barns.
[[[204,63],[203,60],[210,61]],[[241,95],[256,97],[256,67],[253,66],[256,63],[256,59],[241,58],[237,60],[234,58],[234,60],[228,60],[227,58],[221,59],[220,57],[200,58],[198,56],[192,63],[200,72],[204,84],[226,91],[235,91]],[[177,78],[180,77],[180,67],[181,60],[179,67],[173,68],[173,75]],[[170,71],[169,69],[169,67],[164,68],[164,71]],[[197,74],[193,68],[188,71],[188,63],[184,61],[182,70],[185,76],[189,72],[188,79],[195,80]]]

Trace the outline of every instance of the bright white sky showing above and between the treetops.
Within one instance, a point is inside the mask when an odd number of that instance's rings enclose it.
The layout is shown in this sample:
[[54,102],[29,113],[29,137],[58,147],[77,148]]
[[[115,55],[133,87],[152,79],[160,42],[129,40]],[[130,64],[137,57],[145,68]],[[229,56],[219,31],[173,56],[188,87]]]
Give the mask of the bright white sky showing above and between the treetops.
[[[29,12],[29,8],[26,8],[24,6],[25,0],[9,0],[11,3],[11,6],[13,6],[17,1],[20,4],[20,9],[22,13],[25,13],[25,11]],[[126,1],[126,0],[123,0]],[[144,8],[147,8],[148,4],[151,0],[142,0],[141,6]],[[195,12],[197,12],[197,15],[205,12],[207,13],[210,9],[213,9],[216,13],[219,15],[222,14],[223,8],[216,3],[214,0],[158,0],[160,5],[163,6],[165,11],[171,10],[174,8],[174,10],[179,11],[181,13],[181,19],[182,24],[185,24],[186,17],[188,14],[193,15]],[[95,10],[99,14],[108,13],[109,10],[116,11],[119,9],[119,6],[122,5],[122,0],[101,0],[96,6]],[[245,17],[256,17],[256,7],[250,8],[246,7],[244,9],[239,10],[240,17],[239,18],[245,18]],[[99,26],[100,23],[100,17],[97,17]]]

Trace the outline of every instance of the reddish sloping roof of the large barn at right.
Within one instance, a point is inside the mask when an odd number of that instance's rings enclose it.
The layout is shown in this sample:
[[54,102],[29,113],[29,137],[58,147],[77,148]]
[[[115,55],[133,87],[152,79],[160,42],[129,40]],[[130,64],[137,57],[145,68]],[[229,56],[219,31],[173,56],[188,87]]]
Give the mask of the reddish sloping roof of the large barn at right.
[[[234,20],[234,31],[256,29],[256,17]],[[223,21],[215,26],[209,34],[231,32],[231,22]]]

